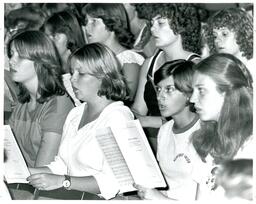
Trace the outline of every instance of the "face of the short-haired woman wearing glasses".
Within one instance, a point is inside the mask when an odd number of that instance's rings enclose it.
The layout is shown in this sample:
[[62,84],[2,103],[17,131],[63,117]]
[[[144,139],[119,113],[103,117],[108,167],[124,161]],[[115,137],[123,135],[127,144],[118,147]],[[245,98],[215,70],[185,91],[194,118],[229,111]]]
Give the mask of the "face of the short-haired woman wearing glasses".
[[186,107],[187,97],[175,88],[172,76],[160,81],[156,86],[156,91],[162,116],[174,117]]

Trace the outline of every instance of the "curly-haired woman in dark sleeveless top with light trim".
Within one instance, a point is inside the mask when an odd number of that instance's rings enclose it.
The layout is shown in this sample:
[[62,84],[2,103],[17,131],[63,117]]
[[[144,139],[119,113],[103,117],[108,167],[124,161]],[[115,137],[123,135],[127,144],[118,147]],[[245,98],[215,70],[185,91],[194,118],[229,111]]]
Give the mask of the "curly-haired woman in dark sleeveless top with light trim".
[[200,56],[195,54],[200,53],[200,21],[197,9],[191,4],[149,4],[148,7],[148,16],[145,18],[151,21],[151,33],[159,50],[146,59],[142,66],[132,110],[156,151],[157,132],[166,119],[161,117],[158,109],[154,73],[167,61],[200,60]]

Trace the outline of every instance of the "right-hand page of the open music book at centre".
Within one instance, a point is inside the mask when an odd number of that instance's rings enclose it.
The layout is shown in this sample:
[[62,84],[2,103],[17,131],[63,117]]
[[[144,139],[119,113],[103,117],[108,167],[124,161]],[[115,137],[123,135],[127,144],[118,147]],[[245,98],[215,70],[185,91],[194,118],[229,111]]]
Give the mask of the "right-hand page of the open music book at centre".
[[111,127],[136,184],[165,187],[166,183],[138,120],[124,127]]

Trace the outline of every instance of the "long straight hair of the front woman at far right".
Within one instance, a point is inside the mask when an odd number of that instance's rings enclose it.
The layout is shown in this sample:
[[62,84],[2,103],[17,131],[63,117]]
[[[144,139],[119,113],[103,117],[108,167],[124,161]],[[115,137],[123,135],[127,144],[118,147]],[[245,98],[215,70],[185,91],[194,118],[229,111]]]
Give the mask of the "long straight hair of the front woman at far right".
[[225,93],[218,122],[203,121],[193,134],[193,145],[205,161],[208,154],[216,163],[232,159],[252,135],[253,88],[246,66],[231,54],[213,54],[197,65],[195,71],[209,76],[220,93]]

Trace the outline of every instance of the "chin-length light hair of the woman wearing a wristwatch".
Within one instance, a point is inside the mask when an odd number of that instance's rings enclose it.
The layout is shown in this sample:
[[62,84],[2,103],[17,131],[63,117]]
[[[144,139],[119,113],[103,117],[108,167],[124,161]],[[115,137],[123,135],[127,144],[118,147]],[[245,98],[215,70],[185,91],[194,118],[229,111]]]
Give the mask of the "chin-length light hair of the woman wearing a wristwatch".
[[128,89],[121,64],[107,46],[101,43],[87,44],[70,55],[70,67],[71,60],[79,61],[88,73],[101,80],[99,96],[106,96],[107,99],[114,101],[127,99]]

